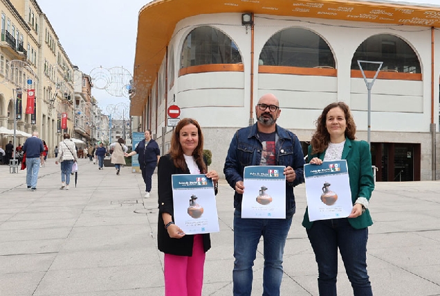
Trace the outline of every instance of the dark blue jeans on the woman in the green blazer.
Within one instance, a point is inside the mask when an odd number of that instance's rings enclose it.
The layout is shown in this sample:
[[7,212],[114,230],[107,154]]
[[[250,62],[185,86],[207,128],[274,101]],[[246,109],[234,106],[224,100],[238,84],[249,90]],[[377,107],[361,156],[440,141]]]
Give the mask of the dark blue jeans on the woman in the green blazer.
[[373,295],[367,274],[368,228],[354,229],[348,218],[318,220],[307,236],[318,263],[320,296],[336,296],[338,247],[354,296]]

